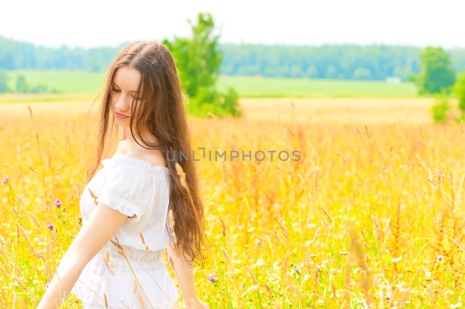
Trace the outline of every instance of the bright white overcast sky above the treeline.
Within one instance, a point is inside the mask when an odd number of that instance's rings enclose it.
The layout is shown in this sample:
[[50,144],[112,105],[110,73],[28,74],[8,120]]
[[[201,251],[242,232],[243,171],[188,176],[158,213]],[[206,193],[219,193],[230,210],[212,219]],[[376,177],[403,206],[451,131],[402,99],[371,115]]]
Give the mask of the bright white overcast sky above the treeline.
[[188,36],[199,12],[222,43],[465,47],[465,0],[5,0],[0,12],[1,35],[53,47]]

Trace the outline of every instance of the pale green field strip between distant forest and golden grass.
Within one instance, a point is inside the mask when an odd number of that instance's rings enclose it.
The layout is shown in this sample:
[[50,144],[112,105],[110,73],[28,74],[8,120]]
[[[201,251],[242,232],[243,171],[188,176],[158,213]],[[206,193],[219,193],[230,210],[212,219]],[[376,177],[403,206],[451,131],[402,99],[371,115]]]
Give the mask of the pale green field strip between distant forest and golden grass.
[[[22,74],[27,84],[43,84],[63,94],[93,94],[101,90],[104,72],[86,71],[7,71],[8,85],[15,88],[16,76]],[[220,91],[233,87],[240,97],[416,97],[411,82],[388,84],[384,81],[307,79],[251,76],[220,76]]]

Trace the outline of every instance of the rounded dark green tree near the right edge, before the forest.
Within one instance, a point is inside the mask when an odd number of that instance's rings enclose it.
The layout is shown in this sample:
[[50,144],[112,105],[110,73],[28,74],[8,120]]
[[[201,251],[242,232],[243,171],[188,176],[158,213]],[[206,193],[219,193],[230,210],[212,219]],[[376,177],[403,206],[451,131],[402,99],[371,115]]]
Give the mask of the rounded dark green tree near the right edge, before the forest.
[[441,47],[426,47],[420,52],[422,71],[415,78],[419,94],[447,92],[455,82],[455,69],[449,55]]

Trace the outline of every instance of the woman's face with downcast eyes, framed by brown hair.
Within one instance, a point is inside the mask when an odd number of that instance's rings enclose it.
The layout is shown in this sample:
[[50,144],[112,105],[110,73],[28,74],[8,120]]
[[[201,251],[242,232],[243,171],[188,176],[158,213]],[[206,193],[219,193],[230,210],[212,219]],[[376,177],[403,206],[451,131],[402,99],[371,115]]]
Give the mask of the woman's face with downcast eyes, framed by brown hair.
[[118,68],[113,76],[110,103],[116,122],[123,128],[129,128],[131,105],[139,81],[140,72],[127,65]]

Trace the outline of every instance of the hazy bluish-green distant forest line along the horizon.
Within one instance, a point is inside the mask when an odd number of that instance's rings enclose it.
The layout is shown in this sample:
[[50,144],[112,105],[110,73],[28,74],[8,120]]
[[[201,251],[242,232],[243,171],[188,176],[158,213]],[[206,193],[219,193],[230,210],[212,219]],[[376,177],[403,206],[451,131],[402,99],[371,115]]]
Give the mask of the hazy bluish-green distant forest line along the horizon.
[[[117,47],[35,46],[0,36],[0,69],[104,71],[125,44]],[[222,74],[407,80],[420,71],[421,48],[389,45],[219,45]],[[465,69],[465,49],[447,50],[456,71]]]

